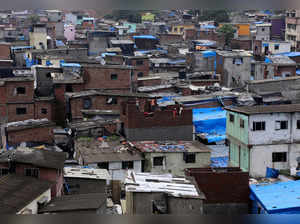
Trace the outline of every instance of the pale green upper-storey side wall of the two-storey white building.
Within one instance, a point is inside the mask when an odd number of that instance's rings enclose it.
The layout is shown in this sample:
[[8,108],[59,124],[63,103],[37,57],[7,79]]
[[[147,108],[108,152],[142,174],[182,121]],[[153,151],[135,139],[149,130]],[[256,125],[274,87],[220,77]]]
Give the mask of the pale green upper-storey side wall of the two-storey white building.
[[[234,115],[234,122],[231,122],[229,117],[230,114]],[[235,139],[241,141],[245,145],[248,145],[249,135],[248,135],[248,116],[243,114],[238,114],[235,112],[227,111],[226,119],[226,133],[234,137]],[[240,120],[244,120],[244,128],[240,127]]]

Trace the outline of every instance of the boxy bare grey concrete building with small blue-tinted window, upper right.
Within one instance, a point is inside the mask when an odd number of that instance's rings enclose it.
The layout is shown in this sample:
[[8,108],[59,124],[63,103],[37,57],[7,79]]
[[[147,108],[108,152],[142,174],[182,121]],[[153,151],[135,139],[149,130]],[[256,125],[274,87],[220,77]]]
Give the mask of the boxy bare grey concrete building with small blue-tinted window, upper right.
[[251,57],[246,51],[217,51],[217,73],[225,87],[243,86],[251,76]]

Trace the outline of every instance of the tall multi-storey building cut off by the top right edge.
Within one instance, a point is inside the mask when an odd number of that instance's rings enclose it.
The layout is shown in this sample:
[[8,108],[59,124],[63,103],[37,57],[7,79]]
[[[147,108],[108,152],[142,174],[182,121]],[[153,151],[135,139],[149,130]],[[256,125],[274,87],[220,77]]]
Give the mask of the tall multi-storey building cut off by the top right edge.
[[292,50],[299,49],[300,10],[288,10],[285,18],[285,40],[292,44]]

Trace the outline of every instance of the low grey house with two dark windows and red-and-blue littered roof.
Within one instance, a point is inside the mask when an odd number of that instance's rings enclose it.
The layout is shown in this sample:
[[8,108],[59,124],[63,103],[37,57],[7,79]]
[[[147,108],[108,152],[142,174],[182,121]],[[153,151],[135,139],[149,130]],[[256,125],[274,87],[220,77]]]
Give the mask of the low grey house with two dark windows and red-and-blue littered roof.
[[132,142],[145,157],[145,172],[184,175],[184,169],[209,167],[211,150],[199,142],[146,141]]

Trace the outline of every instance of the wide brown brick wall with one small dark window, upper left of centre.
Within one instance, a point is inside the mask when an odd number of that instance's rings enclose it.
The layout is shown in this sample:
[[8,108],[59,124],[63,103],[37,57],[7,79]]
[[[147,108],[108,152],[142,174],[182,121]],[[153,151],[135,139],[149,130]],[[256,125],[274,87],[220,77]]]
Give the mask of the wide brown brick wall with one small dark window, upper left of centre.
[[[123,89],[130,90],[131,69],[113,67],[84,67],[85,89]],[[117,79],[112,80],[111,75]]]

